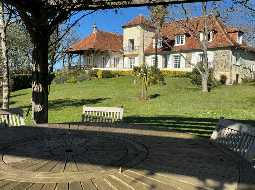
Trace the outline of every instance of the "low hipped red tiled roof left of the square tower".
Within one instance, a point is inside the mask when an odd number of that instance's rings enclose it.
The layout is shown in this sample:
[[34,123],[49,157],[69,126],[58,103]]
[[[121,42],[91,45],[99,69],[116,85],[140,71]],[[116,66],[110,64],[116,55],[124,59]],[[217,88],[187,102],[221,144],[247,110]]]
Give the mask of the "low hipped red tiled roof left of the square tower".
[[121,52],[123,49],[123,36],[103,31],[94,31],[88,37],[73,44],[68,52],[79,52],[86,50]]

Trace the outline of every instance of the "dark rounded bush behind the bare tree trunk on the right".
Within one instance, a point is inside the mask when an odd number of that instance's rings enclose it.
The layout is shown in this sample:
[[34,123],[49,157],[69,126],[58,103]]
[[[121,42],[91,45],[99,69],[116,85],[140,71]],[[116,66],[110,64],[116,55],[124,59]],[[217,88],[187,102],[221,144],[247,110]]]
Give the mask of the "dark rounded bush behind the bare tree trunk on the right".
[[[197,85],[199,87],[202,86],[202,76],[199,73],[199,70],[203,70],[202,63],[197,64],[196,67],[192,70],[191,73],[188,74],[188,77],[191,79],[192,84]],[[213,69],[209,69],[209,77],[208,77],[208,87],[209,89],[212,89],[213,87],[217,86],[217,82],[214,78]]]

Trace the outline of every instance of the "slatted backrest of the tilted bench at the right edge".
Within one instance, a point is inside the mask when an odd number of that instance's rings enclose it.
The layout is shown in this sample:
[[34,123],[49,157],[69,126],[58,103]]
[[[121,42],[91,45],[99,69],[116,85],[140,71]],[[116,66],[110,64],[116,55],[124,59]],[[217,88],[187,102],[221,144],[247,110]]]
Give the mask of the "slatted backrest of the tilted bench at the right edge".
[[255,158],[255,128],[221,119],[211,139],[239,153],[248,161]]

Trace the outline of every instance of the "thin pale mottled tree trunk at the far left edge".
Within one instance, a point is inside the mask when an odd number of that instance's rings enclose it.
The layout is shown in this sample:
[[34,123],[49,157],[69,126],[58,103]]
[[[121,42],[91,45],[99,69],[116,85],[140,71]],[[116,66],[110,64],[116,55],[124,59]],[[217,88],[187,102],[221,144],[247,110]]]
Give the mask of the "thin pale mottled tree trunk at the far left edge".
[[4,20],[4,4],[0,3],[0,33],[1,33],[1,50],[2,50],[2,69],[3,69],[3,102],[2,108],[9,109],[9,99],[10,99],[10,88],[9,88],[9,63],[7,58],[7,48],[6,48],[6,27]]

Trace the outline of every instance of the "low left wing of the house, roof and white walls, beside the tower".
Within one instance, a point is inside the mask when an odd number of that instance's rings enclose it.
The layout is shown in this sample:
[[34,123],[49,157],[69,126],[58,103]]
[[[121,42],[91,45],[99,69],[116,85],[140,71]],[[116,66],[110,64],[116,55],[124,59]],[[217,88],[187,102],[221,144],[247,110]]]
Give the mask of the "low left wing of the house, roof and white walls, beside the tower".
[[123,36],[93,26],[92,33],[73,44],[68,53],[80,56],[80,64],[93,68],[123,68]]

